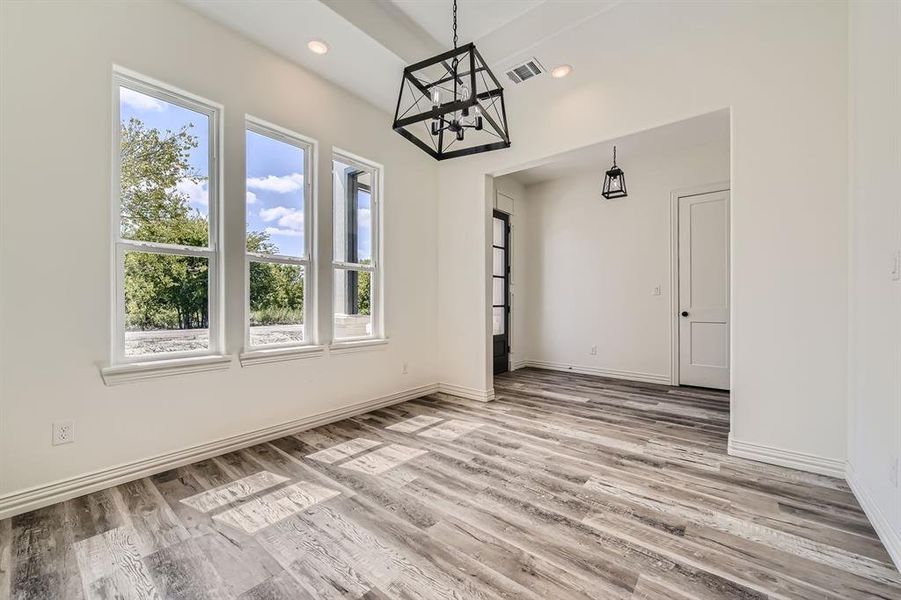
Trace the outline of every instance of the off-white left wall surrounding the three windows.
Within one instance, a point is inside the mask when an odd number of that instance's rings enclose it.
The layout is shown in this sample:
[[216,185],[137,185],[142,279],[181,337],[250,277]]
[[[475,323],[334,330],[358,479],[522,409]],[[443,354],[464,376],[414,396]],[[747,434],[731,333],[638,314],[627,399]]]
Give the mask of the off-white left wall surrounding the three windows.
[[[436,167],[389,115],[171,2],[3,2],[0,21],[0,496],[436,381]],[[243,339],[244,114],[319,140],[326,265],[331,147],[385,166],[387,346],[103,385],[113,63],[225,106],[230,354]],[[331,283],[325,269],[325,341]],[[53,447],[51,422],[63,418],[77,441]]]

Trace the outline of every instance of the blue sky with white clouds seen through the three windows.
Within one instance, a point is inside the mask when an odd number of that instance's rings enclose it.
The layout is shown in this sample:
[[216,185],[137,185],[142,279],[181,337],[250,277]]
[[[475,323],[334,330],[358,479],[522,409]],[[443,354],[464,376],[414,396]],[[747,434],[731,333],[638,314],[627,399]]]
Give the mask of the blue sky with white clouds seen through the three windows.
[[[193,124],[192,135],[198,146],[191,151],[191,166],[206,178],[209,174],[209,122],[206,115],[120,88],[120,116],[132,117],[160,131],[178,131]],[[278,246],[278,253],[301,256],[304,248],[304,151],[285,142],[247,131],[247,230],[266,231]],[[192,208],[209,214],[209,189],[206,181],[196,184],[183,180],[176,189],[188,197]],[[361,260],[371,257],[371,218],[368,194],[360,194],[358,249]]]

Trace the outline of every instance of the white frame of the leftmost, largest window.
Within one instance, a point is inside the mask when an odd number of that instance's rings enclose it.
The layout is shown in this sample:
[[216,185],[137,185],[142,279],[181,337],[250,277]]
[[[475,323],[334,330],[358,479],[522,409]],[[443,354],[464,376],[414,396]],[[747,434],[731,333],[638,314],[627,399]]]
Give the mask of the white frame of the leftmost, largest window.
[[[121,139],[122,122],[120,110],[120,88],[145,94],[157,100],[174,104],[209,119],[208,137],[208,198],[209,239],[206,246],[183,246],[161,242],[129,240],[122,237],[122,160]],[[112,76],[112,298],[113,307],[111,331],[111,364],[145,364],[172,361],[183,358],[221,356],[224,348],[224,288],[222,279],[222,240],[221,225],[222,208],[222,136],[224,125],[224,107],[211,100],[181,90],[153,78],[113,66]],[[206,349],[186,350],[178,352],[160,352],[157,354],[141,354],[128,356],[125,354],[125,255],[127,252],[143,252],[149,254],[168,254],[174,256],[192,256],[206,258],[207,264],[207,302],[209,312],[209,346]]]

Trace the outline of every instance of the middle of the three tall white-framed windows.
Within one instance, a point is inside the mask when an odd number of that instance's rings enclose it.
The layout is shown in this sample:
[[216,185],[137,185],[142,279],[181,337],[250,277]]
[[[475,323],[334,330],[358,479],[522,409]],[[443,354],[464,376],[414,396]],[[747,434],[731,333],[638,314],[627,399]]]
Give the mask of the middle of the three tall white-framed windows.
[[248,119],[246,347],[312,341],[309,300],[313,142]]

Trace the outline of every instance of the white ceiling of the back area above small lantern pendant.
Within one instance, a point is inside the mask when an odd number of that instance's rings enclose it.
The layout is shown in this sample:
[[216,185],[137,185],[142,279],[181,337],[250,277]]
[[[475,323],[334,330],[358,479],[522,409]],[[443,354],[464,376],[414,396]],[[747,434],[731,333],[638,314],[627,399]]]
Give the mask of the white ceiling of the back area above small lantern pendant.
[[627,170],[628,167],[625,165],[628,164],[630,156],[649,153],[669,154],[705,144],[721,144],[724,152],[729,151],[728,109],[571,150],[507,176],[523,185],[533,185],[587,172],[600,175],[612,164],[614,145],[617,163]]

